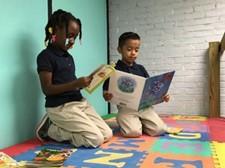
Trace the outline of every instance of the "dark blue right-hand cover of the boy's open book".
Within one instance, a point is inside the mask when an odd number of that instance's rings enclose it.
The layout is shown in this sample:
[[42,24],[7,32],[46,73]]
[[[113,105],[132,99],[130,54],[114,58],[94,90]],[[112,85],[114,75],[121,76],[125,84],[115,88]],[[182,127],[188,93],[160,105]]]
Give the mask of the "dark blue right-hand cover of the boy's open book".
[[171,71],[146,79],[139,110],[163,102],[163,96],[168,92],[174,73],[175,71]]

